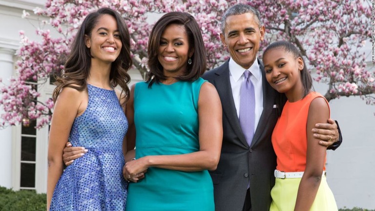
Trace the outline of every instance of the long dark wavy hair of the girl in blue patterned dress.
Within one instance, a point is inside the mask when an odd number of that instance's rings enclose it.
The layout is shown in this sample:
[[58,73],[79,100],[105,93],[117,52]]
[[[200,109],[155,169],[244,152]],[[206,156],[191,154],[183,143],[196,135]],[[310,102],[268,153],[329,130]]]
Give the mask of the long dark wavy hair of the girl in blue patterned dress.
[[[120,85],[123,89],[120,99],[125,98],[125,103],[129,98],[129,87],[127,83],[130,81],[130,76],[127,70],[132,65],[130,56],[130,36],[124,19],[116,11],[109,8],[101,8],[96,12],[92,12],[83,20],[81,27],[78,29],[77,35],[70,48],[69,57],[62,70],[62,76],[57,77],[55,85],[57,87],[52,93],[52,99],[56,103],[57,97],[63,87],[75,88],[83,91],[87,87],[86,79],[89,75],[91,67],[91,53],[90,49],[86,47],[84,38],[87,35],[91,37],[93,28],[103,15],[110,15],[115,18],[117,28],[119,30],[120,39],[123,44],[120,55],[112,62],[111,71],[109,74],[110,84],[113,87]],[[125,105],[122,104],[122,106]]]

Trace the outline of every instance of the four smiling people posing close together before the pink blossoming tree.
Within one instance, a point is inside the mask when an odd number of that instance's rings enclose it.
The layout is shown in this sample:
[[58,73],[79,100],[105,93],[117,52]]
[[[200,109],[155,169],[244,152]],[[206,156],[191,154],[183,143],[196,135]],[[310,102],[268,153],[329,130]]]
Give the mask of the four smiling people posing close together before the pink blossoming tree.
[[205,73],[198,23],[167,13],[148,41],[148,80],[129,89],[126,24],[108,8],[89,14],[53,94],[47,208],[337,210],[324,178],[339,139],[329,105],[291,43],[271,44],[263,65],[264,35],[256,9],[230,7],[230,59]]

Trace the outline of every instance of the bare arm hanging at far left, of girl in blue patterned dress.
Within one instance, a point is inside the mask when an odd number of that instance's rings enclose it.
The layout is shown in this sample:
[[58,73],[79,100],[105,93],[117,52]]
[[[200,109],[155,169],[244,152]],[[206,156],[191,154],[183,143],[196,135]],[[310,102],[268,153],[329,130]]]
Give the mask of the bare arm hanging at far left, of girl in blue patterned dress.
[[62,175],[62,149],[69,138],[74,119],[80,113],[81,101],[82,93],[65,87],[55,104],[48,142],[47,210],[57,181]]

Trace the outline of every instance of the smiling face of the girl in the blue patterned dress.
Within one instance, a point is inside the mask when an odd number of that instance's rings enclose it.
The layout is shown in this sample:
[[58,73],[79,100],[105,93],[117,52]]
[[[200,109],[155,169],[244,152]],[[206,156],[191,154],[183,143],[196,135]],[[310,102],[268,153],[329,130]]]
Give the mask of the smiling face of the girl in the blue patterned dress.
[[91,62],[114,62],[122,47],[116,19],[110,15],[102,15],[92,29],[91,35],[85,35],[85,44],[90,48],[93,57]]

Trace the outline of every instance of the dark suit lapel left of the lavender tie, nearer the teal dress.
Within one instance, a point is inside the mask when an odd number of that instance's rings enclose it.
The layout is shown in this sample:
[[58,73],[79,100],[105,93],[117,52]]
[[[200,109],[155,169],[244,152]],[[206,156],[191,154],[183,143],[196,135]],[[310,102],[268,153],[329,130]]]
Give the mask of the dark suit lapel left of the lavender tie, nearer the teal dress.
[[232,88],[229,81],[229,60],[227,60],[215,74],[217,77],[214,79],[214,83],[221,99],[223,112],[228,118],[229,125],[232,127],[237,137],[239,137],[245,146],[248,146],[240,126],[240,121],[237,117],[236,106],[234,105]]

